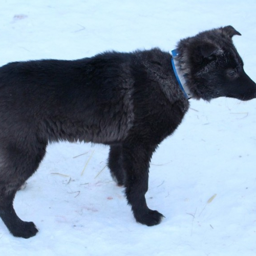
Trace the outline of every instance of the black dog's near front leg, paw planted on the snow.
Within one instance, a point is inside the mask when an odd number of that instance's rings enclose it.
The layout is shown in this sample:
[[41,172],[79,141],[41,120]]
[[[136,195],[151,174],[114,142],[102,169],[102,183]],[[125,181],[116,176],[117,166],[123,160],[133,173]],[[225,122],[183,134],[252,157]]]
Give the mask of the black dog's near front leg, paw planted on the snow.
[[145,200],[148,188],[148,168],[155,147],[136,143],[138,142],[123,145],[125,193],[136,221],[153,226],[159,224],[164,217],[158,211],[149,209]]

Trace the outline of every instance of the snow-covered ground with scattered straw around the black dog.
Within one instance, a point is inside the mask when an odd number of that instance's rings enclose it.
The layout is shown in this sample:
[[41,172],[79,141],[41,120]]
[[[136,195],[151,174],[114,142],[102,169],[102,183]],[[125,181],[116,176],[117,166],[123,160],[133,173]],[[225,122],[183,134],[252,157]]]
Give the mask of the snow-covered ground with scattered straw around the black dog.
[[[256,80],[256,2],[1,0],[0,65],[75,59],[105,50],[160,47],[232,25],[247,74]],[[106,167],[108,147],[59,143],[14,202],[38,234],[12,237],[0,221],[0,255],[255,255],[256,101],[191,100],[152,159],[148,206],[166,218],[135,222]]]

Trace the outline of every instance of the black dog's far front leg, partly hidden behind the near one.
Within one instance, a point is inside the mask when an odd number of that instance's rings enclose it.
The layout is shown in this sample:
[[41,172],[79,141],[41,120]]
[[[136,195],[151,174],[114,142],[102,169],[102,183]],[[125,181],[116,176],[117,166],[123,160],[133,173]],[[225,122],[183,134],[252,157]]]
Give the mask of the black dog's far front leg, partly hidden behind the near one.
[[122,146],[112,145],[110,147],[109,162],[110,173],[118,186],[124,185],[124,170],[122,167]]

